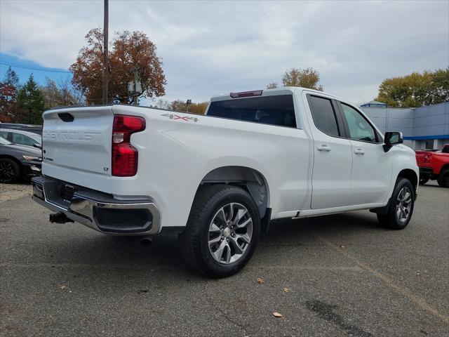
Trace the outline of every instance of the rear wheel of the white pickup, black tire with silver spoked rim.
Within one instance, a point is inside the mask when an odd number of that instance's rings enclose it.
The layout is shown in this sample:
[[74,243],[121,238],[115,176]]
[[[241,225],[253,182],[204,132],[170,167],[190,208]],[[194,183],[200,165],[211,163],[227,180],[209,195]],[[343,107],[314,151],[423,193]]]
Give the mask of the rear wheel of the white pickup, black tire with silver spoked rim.
[[195,270],[220,278],[245,267],[259,237],[259,211],[250,194],[235,186],[207,185],[196,192],[180,246]]

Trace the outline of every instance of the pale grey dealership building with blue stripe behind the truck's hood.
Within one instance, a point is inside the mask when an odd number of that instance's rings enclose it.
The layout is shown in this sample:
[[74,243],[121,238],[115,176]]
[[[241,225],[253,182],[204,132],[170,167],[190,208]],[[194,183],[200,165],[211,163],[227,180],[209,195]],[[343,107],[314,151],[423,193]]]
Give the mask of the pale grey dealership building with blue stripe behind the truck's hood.
[[441,150],[449,144],[449,102],[406,109],[371,101],[360,107],[383,133],[401,131],[413,150]]

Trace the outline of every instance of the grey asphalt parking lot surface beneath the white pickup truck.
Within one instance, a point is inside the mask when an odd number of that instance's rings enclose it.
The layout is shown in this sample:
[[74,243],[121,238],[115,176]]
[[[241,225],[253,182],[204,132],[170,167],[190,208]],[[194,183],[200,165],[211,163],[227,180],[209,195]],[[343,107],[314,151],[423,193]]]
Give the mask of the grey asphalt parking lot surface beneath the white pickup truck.
[[278,221],[220,280],[175,236],[51,224],[24,191],[0,202],[0,336],[449,336],[449,190],[434,183],[406,230],[368,211]]

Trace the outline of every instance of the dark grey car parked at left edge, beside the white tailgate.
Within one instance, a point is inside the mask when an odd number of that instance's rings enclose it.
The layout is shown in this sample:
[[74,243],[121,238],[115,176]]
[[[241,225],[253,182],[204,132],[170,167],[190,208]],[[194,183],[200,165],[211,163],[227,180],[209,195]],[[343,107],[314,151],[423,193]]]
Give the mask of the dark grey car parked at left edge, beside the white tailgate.
[[0,183],[15,183],[20,178],[41,174],[42,150],[13,144],[0,137]]

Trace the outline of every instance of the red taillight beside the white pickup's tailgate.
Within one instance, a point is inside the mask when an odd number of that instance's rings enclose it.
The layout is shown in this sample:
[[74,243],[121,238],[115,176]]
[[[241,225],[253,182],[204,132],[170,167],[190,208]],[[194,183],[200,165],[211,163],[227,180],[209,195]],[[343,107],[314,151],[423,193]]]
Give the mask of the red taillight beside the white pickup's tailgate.
[[138,149],[130,144],[131,134],[145,130],[142,117],[114,116],[112,126],[112,176],[132,177],[138,172]]

